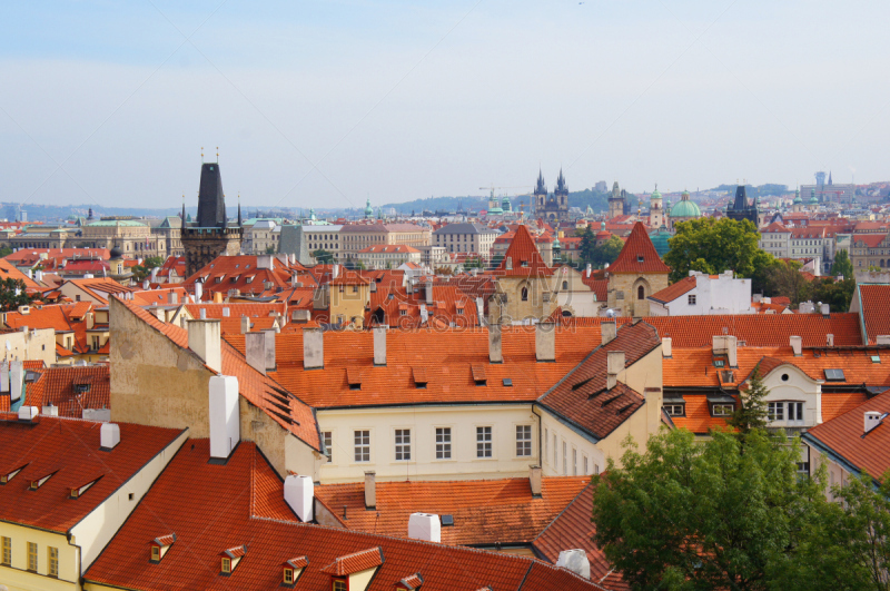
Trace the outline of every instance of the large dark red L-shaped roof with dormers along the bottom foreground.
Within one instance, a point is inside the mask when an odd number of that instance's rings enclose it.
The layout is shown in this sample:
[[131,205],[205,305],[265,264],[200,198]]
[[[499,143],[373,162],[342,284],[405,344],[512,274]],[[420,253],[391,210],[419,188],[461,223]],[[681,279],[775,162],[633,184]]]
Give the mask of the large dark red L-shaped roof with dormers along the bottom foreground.
[[[370,591],[389,591],[415,572],[422,573],[427,591],[602,589],[528,558],[257,516],[253,499],[259,483],[278,489],[277,499],[268,500],[276,512],[290,511],[273,469],[250,442],[243,442],[226,465],[209,464],[208,451],[207,440],[182,445],[85,573],[88,582],[151,591],[277,589],[281,563],[305,555],[308,565],[294,589],[316,591],[330,587],[323,569],[337,559],[379,548],[382,564]],[[176,543],[159,564],[150,564],[148,542],[170,532]],[[219,553],[243,544],[248,550],[238,567],[230,577],[220,575]],[[530,580],[530,569],[542,569],[542,574]]]

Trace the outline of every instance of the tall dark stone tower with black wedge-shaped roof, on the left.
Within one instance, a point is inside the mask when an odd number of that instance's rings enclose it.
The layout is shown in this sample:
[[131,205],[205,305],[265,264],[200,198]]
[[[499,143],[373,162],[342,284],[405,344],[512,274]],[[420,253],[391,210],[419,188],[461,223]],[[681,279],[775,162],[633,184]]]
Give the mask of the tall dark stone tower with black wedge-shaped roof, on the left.
[[[244,228],[240,223],[240,206],[238,209],[238,225],[229,226],[219,162],[201,165],[197,220],[192,224],[182,224],[187,277],[220,255],[234,256],[241,252]],[[184,218],[185,210],[186,206],[182,205]]]

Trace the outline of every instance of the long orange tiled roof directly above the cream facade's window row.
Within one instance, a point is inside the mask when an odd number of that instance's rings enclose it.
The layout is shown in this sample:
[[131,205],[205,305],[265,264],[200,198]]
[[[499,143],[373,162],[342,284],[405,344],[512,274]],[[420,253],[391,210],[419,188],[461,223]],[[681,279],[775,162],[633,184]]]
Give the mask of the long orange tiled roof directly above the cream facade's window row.
[[[315,407],[373,406],[423,403],[533,402],[577,365],[600,343],[599,331],[556,331],[556,361],[535,358],[535,335],[530,327],[504,327],[504,363],[488,363],[486,329],[388,331],[386,366],[374,366],[369,332],[324,333],[324,368],[303,368],[303,334],[276,335],[277,371],[270,372],[288,391]],[[226,339],[244,351],[244,336]],[[486,385],[476,385],[471,365],[483,364]],[[418,388],[414,367],[426,368],[428,383]],[[352,390],[346,371],[362,382]],[[505,386],[504,378],[512,385]]]

